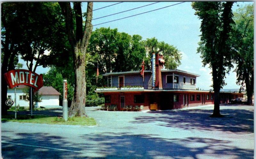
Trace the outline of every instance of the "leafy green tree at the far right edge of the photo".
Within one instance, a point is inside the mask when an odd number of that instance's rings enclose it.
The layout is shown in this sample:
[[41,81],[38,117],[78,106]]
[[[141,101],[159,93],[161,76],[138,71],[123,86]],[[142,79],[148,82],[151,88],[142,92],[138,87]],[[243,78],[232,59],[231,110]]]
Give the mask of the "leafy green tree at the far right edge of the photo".
[[253,4],[245,5],[234,13],[232,44],[236,63],[237,84],[245,85],[247,103],[252,104],[253,95]]

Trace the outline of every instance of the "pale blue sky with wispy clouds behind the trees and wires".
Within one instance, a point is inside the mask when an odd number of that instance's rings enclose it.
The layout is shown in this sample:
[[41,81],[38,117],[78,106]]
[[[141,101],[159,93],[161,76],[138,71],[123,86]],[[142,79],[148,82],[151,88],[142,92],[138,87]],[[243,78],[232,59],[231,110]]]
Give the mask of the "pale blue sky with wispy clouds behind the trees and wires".
[[[115,3],[117,2],[94,2],[93,9]],[[93,11],[93,18],[99,18],[151,3],[154,2],[123,2],[114,6]],[[92,25],[177,3],[179,2],[159,2],[140,9],[93,20]],[[253,2],[235,3],[233,5],[233,11],[238,8],[237,4],[239,4],[239,6],[244,6],[245,4],[253,4]],[[82,12],[86,11],[86,7],[87,3],[83,3]],[[97,25],[93,27],[93,30],[100,27],[110,27],[112,29],[117,28],[119,32],[125,32],[130,35],[139,34],[142,36],[143,40],[156,37],[156,39],[159,41],[164,41],[165,43],[177,47],[182,53],[181,65],[178,67],[178,69],[199,74],[200,77],[197,77],[196,86],[204,90],[209,90],[212,89],[210,87],[212,84],[212,75],[210,74],[211,70],[208,67],[202,66],[200,54],[196,54],[198,42],[200,41],[199,35],[201,34],[201,21],[196,15],[194,15],[194,13],[195,10],[192,9],[191,2],[185,2],[131,18]],[[24,62],[20,60],[20,63]],[[26,64],[23,68],[27,69]],[[49,68],[38,67],[36,73],[46,73],[48,70]],[[240,88],[240,86],[236,85],[236,73],[232,72],[233,70],[234,69],[231,70],[229,75],[226,75],[227,78],[225,81],[227,82],[227,85],[223,87],[224,89]]]

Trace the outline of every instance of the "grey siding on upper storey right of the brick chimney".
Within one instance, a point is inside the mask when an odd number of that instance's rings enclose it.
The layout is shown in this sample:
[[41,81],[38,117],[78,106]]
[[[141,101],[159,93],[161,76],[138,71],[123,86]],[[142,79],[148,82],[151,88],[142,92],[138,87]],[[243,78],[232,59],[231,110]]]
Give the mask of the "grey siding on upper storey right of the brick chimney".
[[[174,74],[174,76],[179,76],[179,83],[166,83],[166,75],[172,75],[172,73],[164,73],[163,75],[163,88],[164,89],[190,89],[196,90],[196,77],[184,76],[180,74]],[[186,83],[183,83],[183,77],[186,77]],[[195,79],[195,85],[190,84],[190,78]],[[173,84],[173,87],[172,87]]]

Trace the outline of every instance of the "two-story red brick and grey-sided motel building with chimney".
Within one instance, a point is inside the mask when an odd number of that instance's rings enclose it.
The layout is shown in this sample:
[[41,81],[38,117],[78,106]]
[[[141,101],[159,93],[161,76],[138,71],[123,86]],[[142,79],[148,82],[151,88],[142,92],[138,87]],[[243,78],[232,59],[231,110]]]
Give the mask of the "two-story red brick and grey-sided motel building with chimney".
[[[152,70],[110,72],[107,77],[108,89],[97,89],[104,93],[105,105],[117,105],[117,110],[124,106],[144,106],[144,110],[167,110],[210,105],[214,103],[214,93],[209,90],[196,90],[196,77],[199,75],[178,70],[163,69],[162,54],[152,55]],[[127,88],[128,87],[128,88]],[[242,93],[221,92],[221,103],[243,97]]]

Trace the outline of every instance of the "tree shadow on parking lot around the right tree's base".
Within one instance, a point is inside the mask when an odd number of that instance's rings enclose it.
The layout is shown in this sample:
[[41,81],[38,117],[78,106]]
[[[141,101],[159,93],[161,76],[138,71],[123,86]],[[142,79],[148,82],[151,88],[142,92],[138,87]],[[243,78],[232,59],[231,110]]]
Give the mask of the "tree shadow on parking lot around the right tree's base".
[[219,130],[234,133],[253,133],[253,110],[222,109],[223,118],[210,118],[212,110],[190,109],[177,111],[151,111],[154,115],[136,117],[132,123],[151,123],[186,130]]

